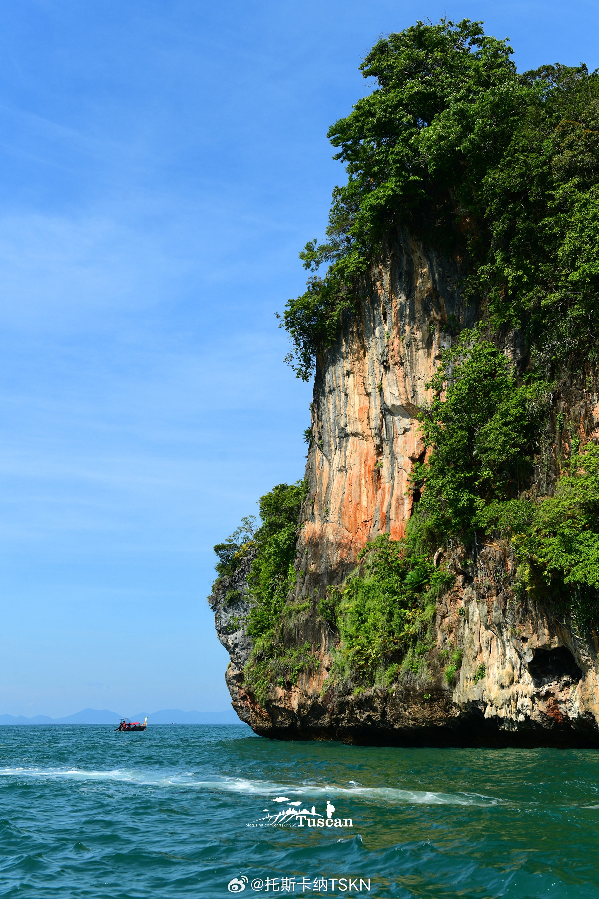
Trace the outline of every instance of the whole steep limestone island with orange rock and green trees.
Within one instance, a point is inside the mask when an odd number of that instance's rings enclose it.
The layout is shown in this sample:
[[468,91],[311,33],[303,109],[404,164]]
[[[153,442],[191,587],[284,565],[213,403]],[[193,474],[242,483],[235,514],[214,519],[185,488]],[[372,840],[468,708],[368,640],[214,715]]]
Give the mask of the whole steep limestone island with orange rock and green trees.
[[599,72],[512,54],[418,22],[330,128],[304,476],[215,547],[256,734],[599,746]]

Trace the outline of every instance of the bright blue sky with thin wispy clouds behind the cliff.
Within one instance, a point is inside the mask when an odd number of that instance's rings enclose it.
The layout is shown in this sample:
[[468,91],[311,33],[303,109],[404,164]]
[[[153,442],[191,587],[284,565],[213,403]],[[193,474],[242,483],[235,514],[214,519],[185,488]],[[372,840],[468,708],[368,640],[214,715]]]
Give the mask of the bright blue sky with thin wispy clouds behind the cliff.
[[599,66],[590,2],[0,4],[0,713],[227,708],[212,547],[303,475],[326,131],[443,14]]

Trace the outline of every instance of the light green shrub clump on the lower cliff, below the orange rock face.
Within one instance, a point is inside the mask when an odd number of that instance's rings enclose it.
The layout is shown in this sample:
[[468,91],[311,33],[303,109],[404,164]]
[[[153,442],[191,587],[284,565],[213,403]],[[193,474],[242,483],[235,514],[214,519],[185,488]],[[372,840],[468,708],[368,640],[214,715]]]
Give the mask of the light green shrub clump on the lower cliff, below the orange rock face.
[[436,568],[410,539],[390,540],[388,534],[367,544],[360,561],[361,569],[340,590],[329,591],[337,601],[341,638],[334,680],[388,685],[398,679],[402,660],[404,674],[418,679],[432,645],[436,599],[454,582],[454,574]]

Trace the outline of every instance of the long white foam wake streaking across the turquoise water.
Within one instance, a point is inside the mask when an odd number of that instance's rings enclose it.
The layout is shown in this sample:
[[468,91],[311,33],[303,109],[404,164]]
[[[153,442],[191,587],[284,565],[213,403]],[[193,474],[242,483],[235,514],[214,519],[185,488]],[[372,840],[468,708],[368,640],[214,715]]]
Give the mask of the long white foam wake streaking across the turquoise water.
[[[153,787],[187,787],[219,790],[245,796],[274,797],[287,793],[298,797],[344,797],[363,799],[385,805],[429,805],[429,806],[497,806],[505,800],[483,796],[477,793],[437,793],[432,790],[408,790],[392,787],[339,787],[330,784],[277,784],[268,780],[217,777],[211,780],[197,779],[193,772],[161,774],[156,771],[107,770],[84,771],[78,768],[4,768],[0,777],[39,778],[116,781]],[[350,781],[350,784],[355,781]]]

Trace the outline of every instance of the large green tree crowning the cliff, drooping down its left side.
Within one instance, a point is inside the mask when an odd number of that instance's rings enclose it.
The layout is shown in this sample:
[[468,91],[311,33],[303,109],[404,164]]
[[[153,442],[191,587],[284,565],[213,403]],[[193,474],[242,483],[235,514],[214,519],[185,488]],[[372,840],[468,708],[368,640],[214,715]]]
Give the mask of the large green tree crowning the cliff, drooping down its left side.
[[333,191],[328,239],[300,254],[304,268],[329,269],[284,316],[298,377],[309,378],[318,343],[330,343],[366,292],[364,275],[390,227],[451,239],[455,218],[468,214],[467,186],[498,163],[530,90],[511,53],[481,22],[442,19],[391,34],[366,56],[362,74],[378,86],[329,130],[348,182]]

